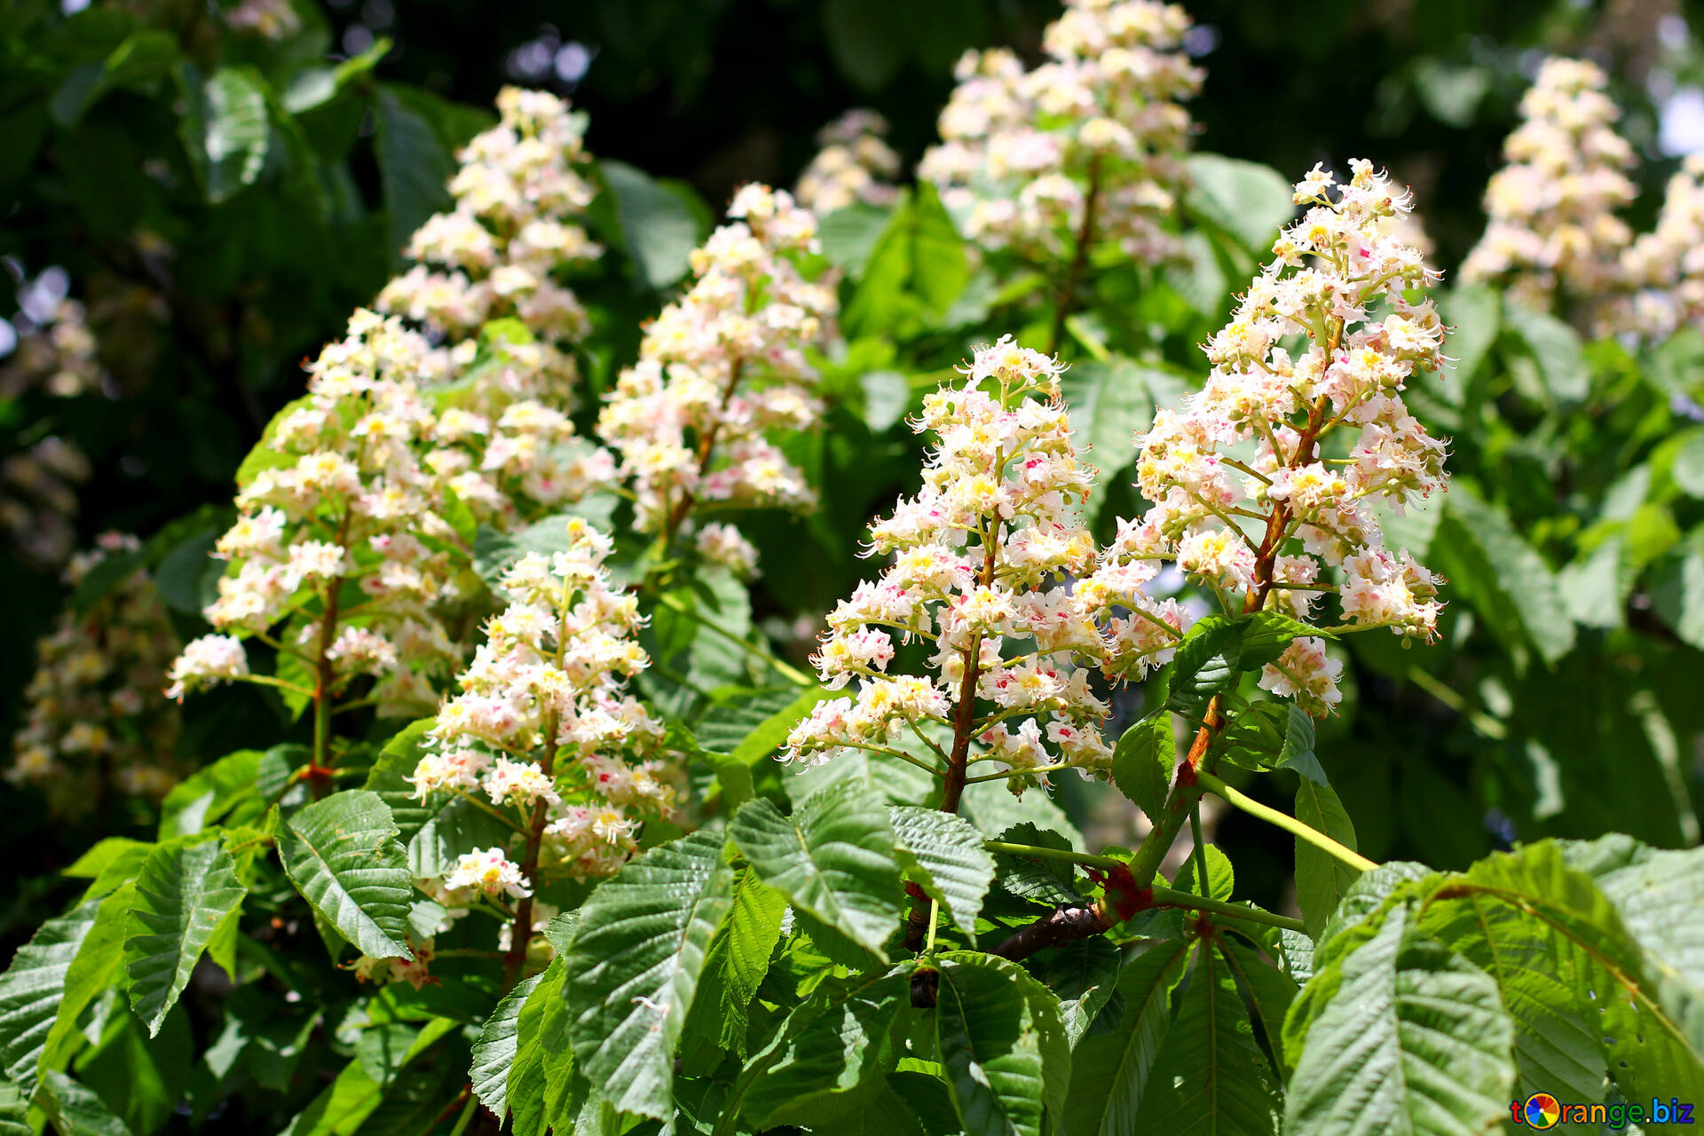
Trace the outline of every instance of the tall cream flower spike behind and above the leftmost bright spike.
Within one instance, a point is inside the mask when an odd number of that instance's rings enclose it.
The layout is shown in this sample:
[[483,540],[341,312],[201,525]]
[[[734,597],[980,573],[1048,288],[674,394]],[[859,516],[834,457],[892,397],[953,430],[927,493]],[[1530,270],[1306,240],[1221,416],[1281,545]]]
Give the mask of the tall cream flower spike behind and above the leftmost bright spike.
[[407,254],[419,264],[385,286],[378,307],[462,341],[457,363],[472,361],[467,337],[486,320],[513,315],[550,344],[528,393],[566,393],[574,361],[556,344],[583,339],[590,320],[557,276],[603,252],[576,221],[595,192],[581,175],[586,119],[518,87],[498,94],[498,111],[501,121],[458,155],[455,208],[414,233]]

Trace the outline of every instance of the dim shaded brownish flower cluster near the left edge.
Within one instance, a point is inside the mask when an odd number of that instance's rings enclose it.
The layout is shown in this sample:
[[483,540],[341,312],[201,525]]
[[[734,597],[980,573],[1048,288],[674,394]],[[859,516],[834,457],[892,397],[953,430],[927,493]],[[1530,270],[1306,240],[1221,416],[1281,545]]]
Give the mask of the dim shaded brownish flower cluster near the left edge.
[[[102,533],[92,552],[72,557],[65,582],[75,588],[97,564],[136,548],[135,536]],[[36,644],[7,780],[41,785],[55,816],[87,812],[107,780],[128,795],[162,797],[177,780],[179,714],[160,697],[174,654],[177,634],[141,569],[87,611],[66,608]]]

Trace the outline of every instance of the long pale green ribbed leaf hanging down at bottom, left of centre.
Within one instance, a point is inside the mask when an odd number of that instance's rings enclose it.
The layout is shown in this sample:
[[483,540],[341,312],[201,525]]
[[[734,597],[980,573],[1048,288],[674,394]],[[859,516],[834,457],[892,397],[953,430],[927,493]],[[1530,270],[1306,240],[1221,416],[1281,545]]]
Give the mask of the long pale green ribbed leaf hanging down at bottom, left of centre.
[[722,835],[694,833],[622,867],[581,909],[564,976],[574,1061],[622,1112],[673,1109],[675,1042],[731,887]]

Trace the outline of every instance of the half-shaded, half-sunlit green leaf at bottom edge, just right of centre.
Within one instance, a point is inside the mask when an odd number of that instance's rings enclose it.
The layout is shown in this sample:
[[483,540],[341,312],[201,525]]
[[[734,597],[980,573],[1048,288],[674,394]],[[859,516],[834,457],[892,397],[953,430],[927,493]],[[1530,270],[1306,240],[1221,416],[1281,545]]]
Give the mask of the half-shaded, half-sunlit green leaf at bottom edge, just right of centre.
[[935,1051],[964,1136],[1041,1136],[1062,1116],[1070,1047],[1058,1000],[1016,962],[941,955]]

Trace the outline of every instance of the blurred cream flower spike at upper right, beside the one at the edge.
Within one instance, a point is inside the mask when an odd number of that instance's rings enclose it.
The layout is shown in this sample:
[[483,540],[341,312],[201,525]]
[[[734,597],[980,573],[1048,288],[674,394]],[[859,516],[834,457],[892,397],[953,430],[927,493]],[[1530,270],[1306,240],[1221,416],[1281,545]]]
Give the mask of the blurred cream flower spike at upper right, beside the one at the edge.
[[1607,77],[1583,60],[1546,60],[1520,100],[1508,160],[1486,186],[1489,223],[1462,262],[1462,279],[1496,281],[1540,310],[1614,291],[1632,240],[1615,209],[1634,199],[1632,146]]

